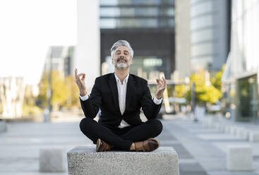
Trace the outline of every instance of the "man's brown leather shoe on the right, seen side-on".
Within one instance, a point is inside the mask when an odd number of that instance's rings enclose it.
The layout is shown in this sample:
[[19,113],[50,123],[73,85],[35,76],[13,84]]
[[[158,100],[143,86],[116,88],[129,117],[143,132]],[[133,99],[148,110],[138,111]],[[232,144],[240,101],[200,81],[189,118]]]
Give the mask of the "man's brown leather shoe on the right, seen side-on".
[[142,142],[135,142],[135,151],[150,152],[156,150],[160,143],[155,138],[149,138]]

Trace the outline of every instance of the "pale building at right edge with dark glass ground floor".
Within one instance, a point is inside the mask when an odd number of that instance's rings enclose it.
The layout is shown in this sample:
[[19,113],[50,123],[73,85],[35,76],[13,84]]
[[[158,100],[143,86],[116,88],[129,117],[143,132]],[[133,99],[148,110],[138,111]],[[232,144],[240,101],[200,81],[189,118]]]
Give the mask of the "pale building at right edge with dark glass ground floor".
[[222,76],[231,119],[258,122],[259,1],[231,1],[231,50]]

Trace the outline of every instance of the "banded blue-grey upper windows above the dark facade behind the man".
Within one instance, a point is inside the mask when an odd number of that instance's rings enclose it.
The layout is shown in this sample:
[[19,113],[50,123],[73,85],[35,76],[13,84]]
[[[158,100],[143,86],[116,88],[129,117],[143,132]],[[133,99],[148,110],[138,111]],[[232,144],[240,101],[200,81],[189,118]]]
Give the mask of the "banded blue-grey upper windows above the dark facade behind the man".
[[101,28],[173,28],[174,0],[100,0]]

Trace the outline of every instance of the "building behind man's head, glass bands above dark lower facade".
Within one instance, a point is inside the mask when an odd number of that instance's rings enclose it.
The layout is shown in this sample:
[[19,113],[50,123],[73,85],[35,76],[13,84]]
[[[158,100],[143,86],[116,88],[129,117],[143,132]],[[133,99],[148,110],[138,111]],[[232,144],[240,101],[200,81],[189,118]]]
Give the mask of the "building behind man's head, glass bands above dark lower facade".
[[117,40],[133,47],[131,73],[149,79],[174,71],[174,0],[100,0],[100,28],[102,73],[113,71],[109,49]]

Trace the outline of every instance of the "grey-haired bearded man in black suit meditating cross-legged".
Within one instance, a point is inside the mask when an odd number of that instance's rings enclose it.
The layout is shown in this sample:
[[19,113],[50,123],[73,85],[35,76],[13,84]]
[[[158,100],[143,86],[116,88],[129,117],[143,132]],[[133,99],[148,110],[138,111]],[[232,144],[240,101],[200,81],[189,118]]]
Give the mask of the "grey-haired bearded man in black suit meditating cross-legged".
[[[162,105],[162,94],[167,87],[164,78],[157,79],[157,92],[152,99],[147,80],[129,73],[133,63],[133,49],[125,40],[114,43],[111,49],[114,73],[95,79],[90,97],[85,90],[85,73],[78,75],[80,103],[85,118],[80,130],[94,144],[96,151],[118,148],[129,151],[152,151],[159,147],[155,139],[162,132],[162,123],[155,119]],[[146,122],[140,120],[143,109]],[[98,123],[93,120],[101,110]]]

